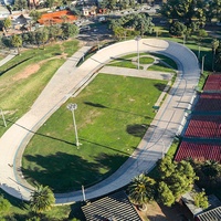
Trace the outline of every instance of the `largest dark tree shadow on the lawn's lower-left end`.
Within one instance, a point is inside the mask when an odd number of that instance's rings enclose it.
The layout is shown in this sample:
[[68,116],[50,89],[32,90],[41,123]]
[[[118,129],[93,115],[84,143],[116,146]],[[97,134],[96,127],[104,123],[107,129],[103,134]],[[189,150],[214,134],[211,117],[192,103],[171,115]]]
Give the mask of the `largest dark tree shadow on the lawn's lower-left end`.
[[75,155],[56,152],[48,156],[28,155],[24,158],[36,166],[22,168],[23,176],[31,182],[49,186],[54,192],[78,190],[82,185],[90,185],[101,177],[101,165]]

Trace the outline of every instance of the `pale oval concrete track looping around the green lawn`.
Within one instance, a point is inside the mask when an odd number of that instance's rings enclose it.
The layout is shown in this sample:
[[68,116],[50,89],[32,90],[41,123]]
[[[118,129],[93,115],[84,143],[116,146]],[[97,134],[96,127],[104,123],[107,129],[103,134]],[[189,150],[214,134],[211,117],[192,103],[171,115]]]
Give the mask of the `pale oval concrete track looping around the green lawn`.
[[[84,48],[82,54],[86,50],[88,49]],[[185,109],[191,105],[194,96],[200,70],[198,60],[190,50],[169,41],[143,39],[139,41],[139,51],[157,52],[173,59],[179,66],[178,77],[137,150],[109,178],[86,189],[86,199],[124,187],[135,176],[148,171],[167,151],[175,135],[182,129]],[[107,61],[134,52],[137,52],[137,42],[130,40],[99,50],[80,67],[75,67],[74,56],[60,67],[31,109],[0,139],[0,181],[4,191],[17,198],[30,199],[33,188],[22,178],[20,166],[22,151],[34,131]],[[55,198],[56,203],[83,200],[81,191],[55,194]]]

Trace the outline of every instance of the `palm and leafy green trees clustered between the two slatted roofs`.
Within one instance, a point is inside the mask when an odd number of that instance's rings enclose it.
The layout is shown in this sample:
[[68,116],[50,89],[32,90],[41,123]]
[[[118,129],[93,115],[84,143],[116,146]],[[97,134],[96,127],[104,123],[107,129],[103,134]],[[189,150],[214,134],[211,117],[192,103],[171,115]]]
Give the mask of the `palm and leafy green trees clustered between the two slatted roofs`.
[[[138,206],[157,200],[170,207],[179,200],[182,194],[192,190],[194,181],[199,180],[192,165],[189,161],[172,161],[167,155],[157,164],[157,178],[152,179],[145,173],[136,177],[128,186],[129,199]],[[204,192],[194,194],[196,206],[208,207]]]

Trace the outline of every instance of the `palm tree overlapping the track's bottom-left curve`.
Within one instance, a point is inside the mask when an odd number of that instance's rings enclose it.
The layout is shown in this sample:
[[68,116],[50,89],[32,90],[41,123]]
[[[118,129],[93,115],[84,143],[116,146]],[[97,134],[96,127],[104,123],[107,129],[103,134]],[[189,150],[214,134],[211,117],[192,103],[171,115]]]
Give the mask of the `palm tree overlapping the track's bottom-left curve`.
[[31,194],[31,210],[35,213],[42,213],[50,210],[52,204],[54,204],[55,198],[52,190],[46,186],[38,186],[36,189]]

